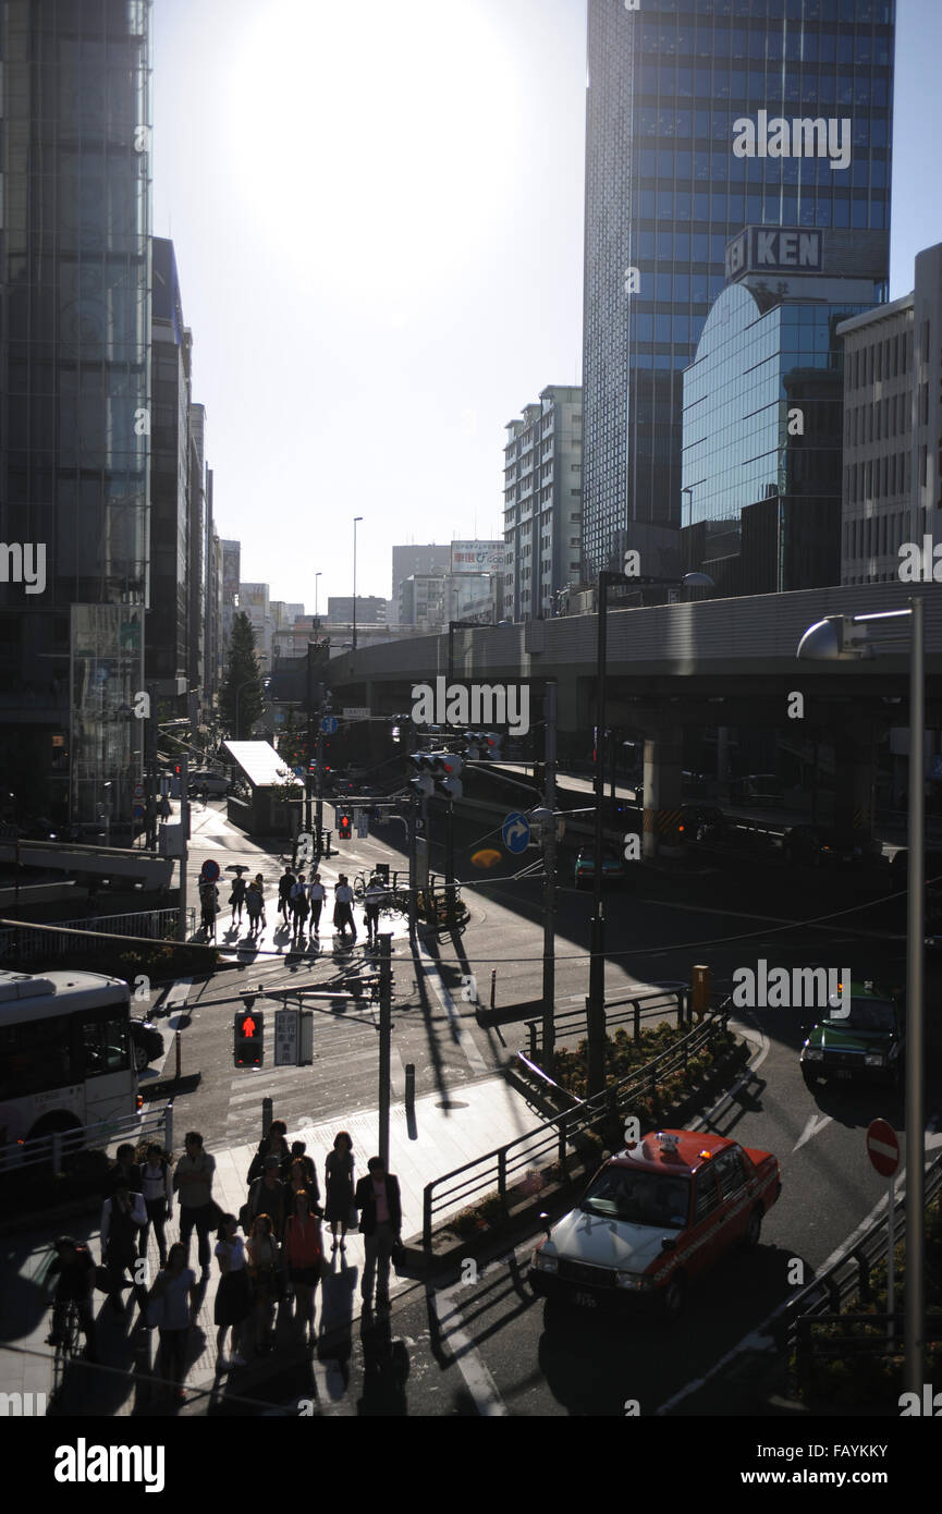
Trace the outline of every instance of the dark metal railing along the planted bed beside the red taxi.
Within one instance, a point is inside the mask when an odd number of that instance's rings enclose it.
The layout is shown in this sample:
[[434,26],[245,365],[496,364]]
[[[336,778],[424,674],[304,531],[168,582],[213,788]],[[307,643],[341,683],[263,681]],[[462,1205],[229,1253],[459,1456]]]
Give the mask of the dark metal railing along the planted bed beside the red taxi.
[[[604,1089],[591,1099],[575,1101],[562,1114],[544,1120],[526,1136],[518,1136],[506,1142],[495,1151],[466,1161],[463,1167],[444,1173],[426,1184],[423,1193],[423,1248],[432,1249],[432,1228],[436,1213],[442,1210],[463,1208],[473,1199],[497,1190],[501,1202],[506,1202],[507,1192],[521,1173],[527,1173],[541,1161],[554,1160],[559,1163],[563,1178],[569,1175],[569,1158],[575,1151],[575,1140],[606,1117],[613,1114],[630,1114],[632,1101],[642,1093],[653,1093],[657,1079],[668,1076],[678,1067],[686,1069],[691,1057],[707,1046],[721,1031],[725,1031],[730,1016],[728,1001],[683,1037],[675,1046],[669,1046],[653,1061],[647,1063],[641,1072],[622,1078],[621,1083]],[[527,1058],[518,1052],[527,1066]],[[547,1079],[548,1081],[548,1079]]]

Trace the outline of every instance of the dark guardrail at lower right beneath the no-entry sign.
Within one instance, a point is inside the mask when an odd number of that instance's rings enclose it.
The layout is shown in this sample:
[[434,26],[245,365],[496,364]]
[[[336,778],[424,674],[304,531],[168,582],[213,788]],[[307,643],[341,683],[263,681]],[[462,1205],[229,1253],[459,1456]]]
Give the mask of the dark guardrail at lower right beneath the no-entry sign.
[[[928,1204],[942,1190],[942,1152],[936,1157],[933,1164],[925,1173],[925,1202]],[[906,1216],[906,1196],[900,1198],[895,1205],[895,1235],[897,1240],[906,1238],[906,1225],[901,1223]],[[798,1375],[798,1382],[803,1391],[810,1391],[812,1373],[816,1358],[825,1358],[833,1355],[848,1355],[856,1350],[866,1350],[871,1344],[878,1347],[881,1352],[892,1349],[887,1340],[877,1338],[874,1335],[862,1337],[857,1335],[854,1340],[851,1335],[839,1341],[824,1341],[815,1338],[827,1325],[834,1325],[838,1322],[866,1322],[868,1326],[883,1325],[884,1331],[889,1329],[889,1316],[886,1314],[844,1314],[841,1313],[847,1304],[862,1302],[866,1304],[872,1297],[871,1273],[874,1267],[886,1261],[889,1251],[889,1216],[883,1216],[868,1229],[866,1235],[854,1246],[847,1257],[842,1257],[828,1267],[827,1272],[821,1273],[795,1294],[789,1304],[788,1310],[788,1325],[786,1325],[786,1346],[795,1352],[795,1367]],[[900,1316],[895,1316],[900,1319]],[[933,1319],[933,1316],[927,1316]],[[942,1316],[939,1316],[942,1320]],[[901,1332],[898,1332],[901,1335]],[[839,1352],[831,1347],[834,1344],[841,1346]]]

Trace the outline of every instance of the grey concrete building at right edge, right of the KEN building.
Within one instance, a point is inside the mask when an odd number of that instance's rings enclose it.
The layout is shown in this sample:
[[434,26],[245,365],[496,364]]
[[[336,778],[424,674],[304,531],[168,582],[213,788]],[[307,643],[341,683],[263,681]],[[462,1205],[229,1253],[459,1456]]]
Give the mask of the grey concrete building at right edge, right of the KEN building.
[[[912,294],[839,327],[844,338],[842,583],[936,583],[942,509],[942,244],[916,256]],[[934,527],[934,530],[933,530]],[[930,553],[924,559],[924,537]],[[919,551],[919,577],[907,575]],[[912,572],[912,565],[910,565]],[[940,569],[942,572],[942,569]]]

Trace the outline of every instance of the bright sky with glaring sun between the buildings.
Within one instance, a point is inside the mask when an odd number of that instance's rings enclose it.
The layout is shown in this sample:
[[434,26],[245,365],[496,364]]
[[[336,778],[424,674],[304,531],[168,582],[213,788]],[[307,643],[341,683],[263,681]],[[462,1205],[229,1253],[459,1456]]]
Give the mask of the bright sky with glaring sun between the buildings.
[[[217,530],[323,613],[503,536],[506,424],[582,380],[585,0],[156,0]],[[898,0],[891,298],[942,241],[942,0]]]

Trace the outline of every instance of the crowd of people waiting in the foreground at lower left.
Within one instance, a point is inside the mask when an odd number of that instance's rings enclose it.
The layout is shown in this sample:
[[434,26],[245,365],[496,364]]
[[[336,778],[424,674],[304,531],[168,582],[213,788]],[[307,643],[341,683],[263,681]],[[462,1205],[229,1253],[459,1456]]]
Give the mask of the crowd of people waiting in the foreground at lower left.
[[[97,1360],[94,1288],[108,1294],[106,1308],[124,1316],[135,1302],[141,1320],[159,1331],[156,1375],[170,1396],[185,1399],[183,1378],[189,1331],[211,1276],[215,1255],[220,1282],[214,1317],[217,1370],[245,1366],[244,1352],[267,1355],[274,1347],[276,1319],[285,1316],[310,1349],[315,1344],[315,1294],[327,1267],[324,1223],[330,1251],[347,1251],[347,1234],[363,1237],[360,1278],[363,1314],[389,1308],[389,1267],[401,1248],[398,1179],[380,1157],[371,1157],[357,1179],[353,1140],[338,1131],[324,1158],[324,1192],[315,1160],[304,1142],[288,1142],[283,1120],[273,1120],[247,1172],[247,1199],[239,1214],[227,1214],[214,1201],[215,1158],[198,1131],[189,1131],[183,1154],[171,1164],[159,1145],[138,1161],[135,1148],[118,1148],[101,1207],[101,1261],[91,1248],[62,1235],[55,1245],[50,1279],[55,1279],[53,1325],[48,1344],[59,1344],[65,1310],[77,1305],[86,1337],[86,1357]],[[168,1243],[167,1226],[179,1211],[179,1240]],[[158,1246],[159,1272],[148,1281],[150,1229]],[[197,1272],[189,1266],[197,1234]],[[242,1234],[239,1234],[239,1231]],[[215,1234],[215,1248],[212,1235]],[[345,1266],[345,1261],[342,1261]],[[127,1275],[130,1273],[130,1281]],[[130,1288],[129,1304],[124,1291]],[[229,1352],[226,1350],[229,1337]]]

